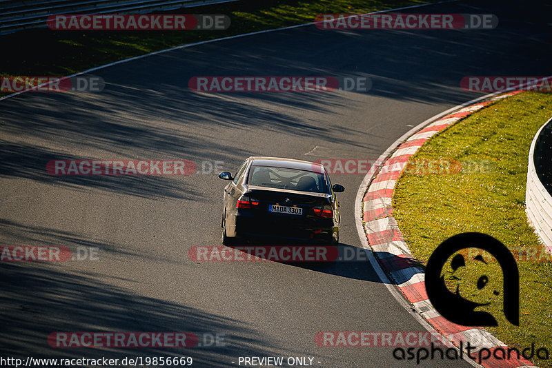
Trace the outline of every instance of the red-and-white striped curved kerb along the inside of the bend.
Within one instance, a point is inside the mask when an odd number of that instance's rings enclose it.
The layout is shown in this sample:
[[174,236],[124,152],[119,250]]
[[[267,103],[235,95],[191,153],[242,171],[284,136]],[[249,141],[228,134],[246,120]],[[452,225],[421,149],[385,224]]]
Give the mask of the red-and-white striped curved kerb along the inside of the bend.
[[[498,99],[519,92],[521,91],[511,88],[486,94],[432,116],[413,127],[380,155],[375,163],[376,170],[371,170],[364,176],[355,198],[357,233],[368,260],[382,283],[397,302],[427,331],[441,334],[456,348],[460,341],[469,339],[477,341],[478,347],[489,349],[491,358],[486,360],[484,365],[466,359],[474,367],[497,367],[504,364],[503,360],[495,360],[492,353],[493,349],[506,347],[506,344],[486,329],[450,323],[433,309],[425,292],[424,272],[420,267],[411,266],[414,257],[392,215],[393,189],[408,158],[415,154],[425,141],[431,139],[431,136]],[[535,367],[525,359],[512,359],[508,364],[504,367]]]

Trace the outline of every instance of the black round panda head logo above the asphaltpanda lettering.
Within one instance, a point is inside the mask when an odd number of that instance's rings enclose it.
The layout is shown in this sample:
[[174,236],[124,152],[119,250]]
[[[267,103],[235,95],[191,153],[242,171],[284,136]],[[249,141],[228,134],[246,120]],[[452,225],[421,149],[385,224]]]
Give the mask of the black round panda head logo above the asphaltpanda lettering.
[[[467,257],[458,251],[478,248],[495,258],[502,269],[500,279],[486,272],[487,261],[478,254]],[[448,274],[448,276],[447,276]],[[447,287],[452,283],[453,287]],[[497,326],[492,314],[476,310],[493,303],[504,303],[504,316],[519,325],[519,274],[515,258],[492,236],[463,233],[441,243],[431,254],[426,267],[426,292],[431,304],[447,320],[466,326]]]

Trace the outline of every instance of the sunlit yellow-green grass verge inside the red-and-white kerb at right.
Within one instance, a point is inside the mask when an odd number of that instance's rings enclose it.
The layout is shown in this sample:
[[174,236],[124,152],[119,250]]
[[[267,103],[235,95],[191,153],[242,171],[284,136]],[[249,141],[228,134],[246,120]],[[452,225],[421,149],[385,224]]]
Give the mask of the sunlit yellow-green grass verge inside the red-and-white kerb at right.
[[[400,176],[393,215],[415,258],[425,265],[437,245],[460,232],[489,234],[511,250],[542,249],[526,220],[525,189],[531,141],[551,115],[552,94],[523,92],[475,112],[422,146],[411,161],[444,158],[485,165],[457,174]],[[517,348],[535,343],[552,352],[552,263],[535,258],[540,257],[517,260],[520,326],[504,318],[502,299],[484,310],[497,318],[498,327],[489,331],[504,343]],[[497,265],[477,267],[477,274],[502,277]],[[552,360],[533,362],[552,367]]]

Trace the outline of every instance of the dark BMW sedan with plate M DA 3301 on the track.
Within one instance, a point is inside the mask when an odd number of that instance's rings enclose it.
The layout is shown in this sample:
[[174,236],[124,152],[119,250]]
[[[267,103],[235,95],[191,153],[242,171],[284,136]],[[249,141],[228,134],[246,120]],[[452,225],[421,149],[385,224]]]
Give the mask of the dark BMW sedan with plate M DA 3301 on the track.
[[249,157],[236,174],[221,172],[224,187],[222,243],[339,243],[339,184],[319,163],[275,157]]

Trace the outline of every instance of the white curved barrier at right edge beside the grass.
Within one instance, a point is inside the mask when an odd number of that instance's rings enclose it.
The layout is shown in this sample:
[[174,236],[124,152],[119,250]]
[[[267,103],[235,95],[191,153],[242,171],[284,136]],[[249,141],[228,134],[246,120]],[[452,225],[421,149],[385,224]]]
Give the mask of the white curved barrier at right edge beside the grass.
[[[545,185],[551,185],[551,182],[547,181],[552,170],[551,137],[552,118],[540,127],[531,142],[525,192],[527,217],[549,253],[552,253],[552,196]],[[545,180],[544,183],[541,181],[542,178]]]

